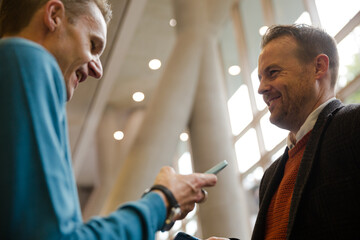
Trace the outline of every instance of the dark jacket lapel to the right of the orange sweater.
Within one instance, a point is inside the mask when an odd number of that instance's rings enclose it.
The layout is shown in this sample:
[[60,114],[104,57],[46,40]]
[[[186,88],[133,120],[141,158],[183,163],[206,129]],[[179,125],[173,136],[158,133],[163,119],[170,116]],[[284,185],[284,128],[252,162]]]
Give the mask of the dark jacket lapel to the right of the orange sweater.
[[309,142],[306,145],[303,158],[300,163],[297,179],[294,186],[294,192],[291,200],[289,225],[287,229],[287,238],[291,236],[291,232],[294,226],[295,217],[301,201],[301,196],[304,192],[306,183],[309,179],[313,163],[316,159],[319,151],[320,143],[322,141],[323,134],[326,131],[328,124],[331,122],[335,113],[342,108],[343,105],[339,100],[331,101],[320,113],[318,120],[311,132]]

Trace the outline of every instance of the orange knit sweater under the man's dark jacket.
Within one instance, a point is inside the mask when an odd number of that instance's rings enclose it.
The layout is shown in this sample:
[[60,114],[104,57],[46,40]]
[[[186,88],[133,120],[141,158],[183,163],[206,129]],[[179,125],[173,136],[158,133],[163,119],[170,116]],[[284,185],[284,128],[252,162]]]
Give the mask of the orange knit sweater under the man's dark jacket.
[[310,132],[289,150],[289,159],[285,165],[283,179],[281,180],[268,209],[265,239],[286,239],[291,198],[300,162],[310,137]]

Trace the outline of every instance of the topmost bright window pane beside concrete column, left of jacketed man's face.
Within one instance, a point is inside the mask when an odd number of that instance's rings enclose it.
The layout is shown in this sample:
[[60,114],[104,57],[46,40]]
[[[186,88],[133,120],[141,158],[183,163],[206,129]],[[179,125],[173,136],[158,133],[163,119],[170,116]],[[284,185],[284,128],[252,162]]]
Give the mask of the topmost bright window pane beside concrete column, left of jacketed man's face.
[[245,84],[228,101],[232,133],[238,135],[253,119],[248,88]]

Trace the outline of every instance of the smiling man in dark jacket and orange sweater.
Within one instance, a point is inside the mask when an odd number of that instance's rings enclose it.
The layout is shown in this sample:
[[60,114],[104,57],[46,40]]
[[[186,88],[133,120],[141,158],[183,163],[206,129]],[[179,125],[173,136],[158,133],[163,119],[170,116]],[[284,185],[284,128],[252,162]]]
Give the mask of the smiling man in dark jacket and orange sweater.
[[335,40],[307,25],[269,28],[259,94],[290,131],[264,173],[252,239],[355,239],[360,215],[360,106],[335,98]]

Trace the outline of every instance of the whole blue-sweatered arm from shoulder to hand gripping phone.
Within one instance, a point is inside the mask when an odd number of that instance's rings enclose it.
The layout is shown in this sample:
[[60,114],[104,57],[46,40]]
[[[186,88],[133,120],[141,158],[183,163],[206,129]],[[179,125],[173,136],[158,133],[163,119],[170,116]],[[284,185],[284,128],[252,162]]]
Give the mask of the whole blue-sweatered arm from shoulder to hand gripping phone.
[[[66,92],[56,61],[24,40],[1,44],[0,104],[6,114],[0,116],[0,239],[154,239],[168,205],[161,193],[82,222],[67,137]],[[155,180],[174,193],[181,218],[202,199],[200,189],[215,182],[214,175],[182,176],[171,168],[162,169]]]

